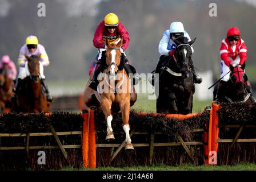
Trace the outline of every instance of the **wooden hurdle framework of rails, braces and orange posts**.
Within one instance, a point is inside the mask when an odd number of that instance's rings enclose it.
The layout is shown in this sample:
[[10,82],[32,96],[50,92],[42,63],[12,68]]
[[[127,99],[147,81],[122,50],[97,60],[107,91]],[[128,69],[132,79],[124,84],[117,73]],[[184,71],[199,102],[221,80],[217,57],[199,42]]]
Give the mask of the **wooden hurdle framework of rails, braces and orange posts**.
[[[156,135],[161,135],[163,133],[147,133],[147,132],[139,132],[139,131],[131,131],[131,137],[133,135],[148,135],[150,138],[149,143],[134,143],[134,147],[149,147],[149,162],[150,164],[153,162],[153,154],[154,147],[158,146],[182,146],[186,151],[186,154],[189,155],[191,162],[194,162],[193,152],[189,150],[188,146],[193,145],[203,145],[203,151],[205,155],[205,163],[206,164],[217,164],[215,159],[217,158],[218,144],[219,143],[234,143],[237,142],[256,142],[256,138],[253,139],[239,139],[239,135],[245,127],[256,127],[256,125],[228,125],[230,128],[239,128],[237,135],[234,139],[220,139],[219,138],[219,104],[218,102],[213,101],[212,106],[205,107],[206,113],[209,115],[209,119],[206,121],[205,128],[203,129],[194,129],[193,133],[202,132],[203,133],[203,141],[193,141],[186,142],[182,139],[179,133],[176,133],[176,137],[179,142],[169,142],[169,143],[155,143],[154,137]],[[146,115],[147,113],[138,113],[139,115]],[[165,114],[167,118],[178,118],[178,119],[186,119],[195,117],[200,113],[193,114]],[[51,113],[45,113],[45,116],[49,117]],[[153,114],[153,115],[161,115],[161,114]],[[83,167],[85,168],[96,168],[96,150],[97,147],[118,147],[115,150],[114,154],[111,156],[111,161],[118,155],[119,151],[122,150],[122,147],[125,146],[125,141],[121,144],[119,143],[96,143],[96,133],[95,125],[94,125],[94,110],[86,110],[83,109],[81,113],[81,117],[83,118],[83,128],[82,131],[65,131],[65,132],[55,132],[53,125],[49,125],[50,133],[0,133],[0,137],[25,137],[26,138],[26,146],[18,146],[18,147],[4,147],[0,146],[1,150],[26,150],[27,156],[29,156],[30,150],[38,150],[38,149],[54,149],[59,148],[62,152],[62,155],[67,160],[67,153],[65,148],[82,148],[82,159],[83,159]],[[57,146],[30,146],[30,138],[31,137],[41,137],[41,136],[53,136],[57,142]],[[82,141],[79,144],[73,145],[63,145],[61,140],[59,140],[59,135],[82,135]],[[216,156],[214,156],[216,155]]]

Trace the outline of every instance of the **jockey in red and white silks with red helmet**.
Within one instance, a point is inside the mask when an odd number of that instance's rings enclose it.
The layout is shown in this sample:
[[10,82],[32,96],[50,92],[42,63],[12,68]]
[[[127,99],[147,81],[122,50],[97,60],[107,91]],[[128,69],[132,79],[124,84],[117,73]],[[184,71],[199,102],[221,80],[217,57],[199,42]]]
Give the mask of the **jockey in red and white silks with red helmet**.
[[[231,27],[227,30],[227,37],[222,40],[221,48],[219,48],[221,54],[221,81],[219,81],[217,100],[223,100],[225,96],[226,82],[229,81],[230,71],[229,65],[233,67],[242,67],[247,59],[247,47],[245,41],[241,39],[241,33],[237,27]],[[226,75],[226,76],[225,76]],[[246,82],[247,92],[253,93],[250,82]]]

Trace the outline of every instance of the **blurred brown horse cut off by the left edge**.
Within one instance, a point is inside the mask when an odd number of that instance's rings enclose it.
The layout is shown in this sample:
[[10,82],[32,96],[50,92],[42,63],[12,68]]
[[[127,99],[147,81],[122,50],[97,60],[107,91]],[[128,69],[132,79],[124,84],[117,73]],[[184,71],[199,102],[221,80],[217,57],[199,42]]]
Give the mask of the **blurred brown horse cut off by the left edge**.
[[6,65],[0,70],[0,107],[1,113],[9,113],[13,107],[11,97],[13,96],[14,84],[11,78],[8,77]]

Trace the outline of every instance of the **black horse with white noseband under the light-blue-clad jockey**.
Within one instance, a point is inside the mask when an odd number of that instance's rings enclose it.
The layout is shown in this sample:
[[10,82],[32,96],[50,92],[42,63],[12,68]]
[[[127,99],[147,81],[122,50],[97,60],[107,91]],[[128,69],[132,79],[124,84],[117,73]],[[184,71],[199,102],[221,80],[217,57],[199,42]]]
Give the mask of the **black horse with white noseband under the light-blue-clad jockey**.
[[177,44],[175,56],[161,56],[165,67],[159,73],[159,96],[157,113],[189,114],[193,108],[195,85],[190,63],[192,61],[191,45],[186,37],[174,40]]

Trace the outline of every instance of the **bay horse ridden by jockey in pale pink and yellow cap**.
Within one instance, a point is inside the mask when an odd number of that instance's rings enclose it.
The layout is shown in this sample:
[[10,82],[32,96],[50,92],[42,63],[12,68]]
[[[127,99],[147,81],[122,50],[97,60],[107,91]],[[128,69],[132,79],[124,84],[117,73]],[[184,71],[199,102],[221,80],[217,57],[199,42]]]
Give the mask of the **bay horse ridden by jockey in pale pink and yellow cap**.
[[39,72],[40,56],[31,56],[27,58],[26,71],[30,76],[22,80],[21,90],[18,96],[18,111],[29,113],[49,112],[50,102],[46,99],[46,93],[42,89],[41,76]]

